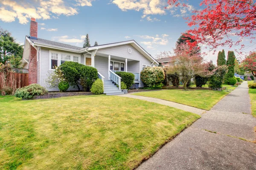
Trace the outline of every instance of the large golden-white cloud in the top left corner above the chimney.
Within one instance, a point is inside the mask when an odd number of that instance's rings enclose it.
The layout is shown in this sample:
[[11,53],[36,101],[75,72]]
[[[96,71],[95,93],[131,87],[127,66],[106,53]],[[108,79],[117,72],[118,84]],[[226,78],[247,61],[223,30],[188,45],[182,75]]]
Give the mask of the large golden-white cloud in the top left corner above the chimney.
[[[78,14],[76,6],[92,6],[93,0],[0,0],[0,20],[26,24],[31,17],[48,20],[60,15],[70,16]],[[41,23],[44,24],[44,23]],[[42,25],[43,26],[43,25]]]

